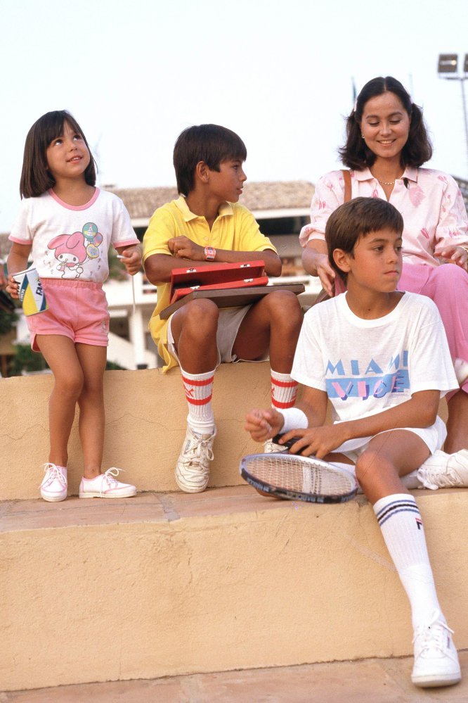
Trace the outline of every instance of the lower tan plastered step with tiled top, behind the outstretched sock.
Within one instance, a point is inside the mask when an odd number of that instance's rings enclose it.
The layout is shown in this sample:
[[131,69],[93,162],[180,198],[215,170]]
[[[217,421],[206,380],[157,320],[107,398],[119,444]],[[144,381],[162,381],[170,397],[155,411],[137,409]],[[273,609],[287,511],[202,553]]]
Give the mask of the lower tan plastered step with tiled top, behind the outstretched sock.
[[[416,493],[468,647],[468,492]],[[400,657],[410,612],[372,508],[199,495],[0,505],[0,690]]]

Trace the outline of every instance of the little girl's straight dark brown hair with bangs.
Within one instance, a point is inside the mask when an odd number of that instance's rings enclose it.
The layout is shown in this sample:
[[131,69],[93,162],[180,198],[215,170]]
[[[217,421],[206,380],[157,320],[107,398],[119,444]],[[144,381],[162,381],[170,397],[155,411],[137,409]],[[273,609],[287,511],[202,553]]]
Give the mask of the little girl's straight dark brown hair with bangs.
[[53,139],[63,135],[63,125],[68,122],[70,127],[81,134],[89,151],[89,165],[84,172],[84,178],[89,186],[96,185],[96,162],[77,120],[67,110],[53,110],[34,122],[27,133],[25,141],[25,154],[22,159],[20,179],[20,194],[22,198],[36,198],[53,188],[56,179],[47,166],[47,147]]

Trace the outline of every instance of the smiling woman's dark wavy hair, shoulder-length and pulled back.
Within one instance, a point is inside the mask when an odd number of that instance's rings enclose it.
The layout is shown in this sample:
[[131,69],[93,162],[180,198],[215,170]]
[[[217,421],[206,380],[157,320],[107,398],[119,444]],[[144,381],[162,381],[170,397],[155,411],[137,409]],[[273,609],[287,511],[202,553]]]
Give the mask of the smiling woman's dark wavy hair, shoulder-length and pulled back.
[[386,92],[394,93],[410,115],[410,134],[401,152],[402,166],[420,167],[432,156],[432,144],[427,135],[422,118],[422,109],[411,102],[410,94],[401,82],[391,76],[372,78],[365,84],[356,100],[356,109],[351,110],[346,120],[346,144],[339,149],[339,156],[348,168],[362,171],[371,167],[377,158],[370,151],[361,134],[360,123],[363,119],[365,103]]

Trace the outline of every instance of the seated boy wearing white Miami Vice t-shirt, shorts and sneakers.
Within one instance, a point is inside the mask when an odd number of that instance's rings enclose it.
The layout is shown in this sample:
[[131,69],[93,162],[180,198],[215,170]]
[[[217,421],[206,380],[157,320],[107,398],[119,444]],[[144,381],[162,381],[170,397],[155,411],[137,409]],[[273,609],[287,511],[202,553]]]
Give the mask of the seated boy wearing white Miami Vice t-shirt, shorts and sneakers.
[[[301,403],[252,410],[245,429],[256,441],[279,432],[282,442],[298,437],[292,452],[354,465],[410,600],[412,681],[425,688],[457,683],[460,665],[420,512],[401,476],[420,467],[418,478],[434,488],[448,485],[455,466],[455,482],[464,486],[468,462],[463,452],[440,451],[446,428],[438,403],[457,380],[434,303],[396,290],[402,232],[400,213],[380,198],[355,198],[332,213],[330,264],[348,291],[306,313],[291,372],[304,386]],[[325,425],[329,399],[334,424]]]

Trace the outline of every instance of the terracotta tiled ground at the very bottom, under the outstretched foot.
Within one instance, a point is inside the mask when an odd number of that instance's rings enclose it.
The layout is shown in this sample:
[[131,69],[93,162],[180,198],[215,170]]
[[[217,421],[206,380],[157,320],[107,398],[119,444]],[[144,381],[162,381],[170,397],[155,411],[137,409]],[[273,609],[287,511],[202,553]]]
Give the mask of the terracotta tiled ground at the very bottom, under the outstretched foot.
[[412,685],[412,657],[334,661],[197,673],[156,680],[84,683],[16,691],[1,703],[466,703],[468,651],[461,683],[422,691]]

